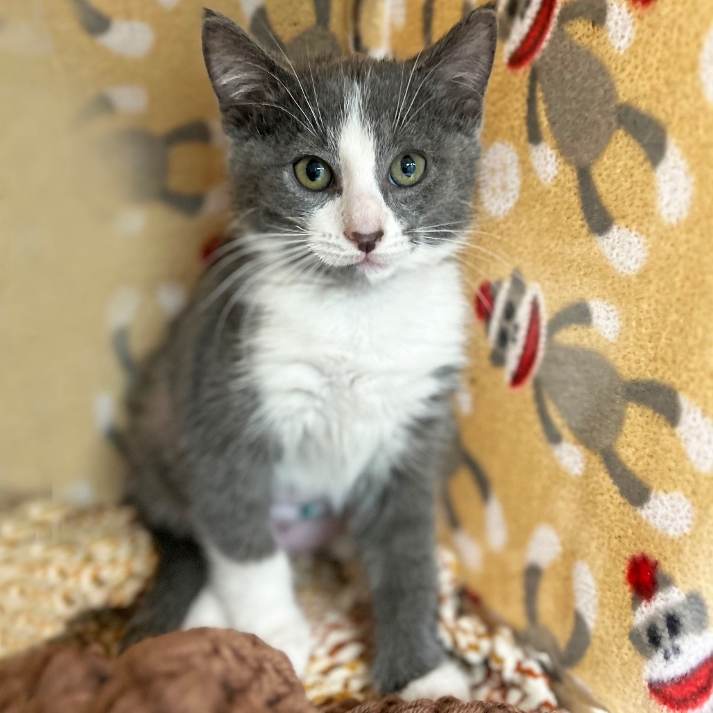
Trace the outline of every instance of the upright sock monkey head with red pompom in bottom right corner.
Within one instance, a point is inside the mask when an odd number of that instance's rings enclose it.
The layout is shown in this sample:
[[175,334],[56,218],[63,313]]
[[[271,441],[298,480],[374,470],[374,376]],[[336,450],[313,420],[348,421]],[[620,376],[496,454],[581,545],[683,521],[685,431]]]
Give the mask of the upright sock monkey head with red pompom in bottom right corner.
[[657,560],[634,555],[627,565],[634,623],[629,640],[646,659],[644,684],[663,710],[713,712],[713,630],[698,592],[684,593]]

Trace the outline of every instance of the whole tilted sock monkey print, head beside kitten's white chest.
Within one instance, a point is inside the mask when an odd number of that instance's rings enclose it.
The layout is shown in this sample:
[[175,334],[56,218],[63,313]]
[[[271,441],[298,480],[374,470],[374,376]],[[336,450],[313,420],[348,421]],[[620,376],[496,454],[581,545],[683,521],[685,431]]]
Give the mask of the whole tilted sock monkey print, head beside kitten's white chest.
[[575,302],[550,319],[538,284],[525,284],[518,270],[504,282],[486,282],[476,295],[476,314],[486,328],[491,363],[502,367],[511,389],[532,384],[540,424],[560,465],[578,476],[580,448],[563,438],[550,416],[558,411],[577,441],[604,463],[621,496],[657,530],[687,533],[693,508],[682,493],[661,493],[645,483],[617,452],[630,404],[644,406],[675,429],[693,465],[713,472],[713,421],[676,389],[652,379],[624,379],[593,349],[563,344],[570,327],[593,327],[615,339],[618,318],[605,302]]

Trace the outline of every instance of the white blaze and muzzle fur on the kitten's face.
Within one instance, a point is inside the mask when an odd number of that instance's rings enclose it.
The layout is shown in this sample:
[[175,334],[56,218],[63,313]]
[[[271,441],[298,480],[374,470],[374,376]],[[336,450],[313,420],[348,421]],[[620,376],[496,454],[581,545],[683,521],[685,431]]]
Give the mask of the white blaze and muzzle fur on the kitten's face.
[[[330,195],[327,205],[310,218],[310,247],[327,265],[359,265],[369,279],[386,277],[393,272],[396,260],[409,253],[409,241],[381,195],[377,173],[383,167],[376,165],[374,135],[361,111],[358,89],[349,101],[338,150],[339,165],[334,169],[342,191]],[[379,232],[383,235],[368,256],[349,240],[349,235],[356,233]]]

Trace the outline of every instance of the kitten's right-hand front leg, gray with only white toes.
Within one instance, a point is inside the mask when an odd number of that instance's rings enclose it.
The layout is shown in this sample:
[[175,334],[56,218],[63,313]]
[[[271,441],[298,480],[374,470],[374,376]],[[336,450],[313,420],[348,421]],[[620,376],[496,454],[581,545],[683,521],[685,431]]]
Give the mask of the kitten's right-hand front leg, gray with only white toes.
[[414,433],[408,464],[392,468],[386,482],[378,475],[360,479],[351,526],[374,605],[376,686],[407,697],[467,698],[466,679],[438,640],[434,452],[445,442],[439,426],[424,424]]

